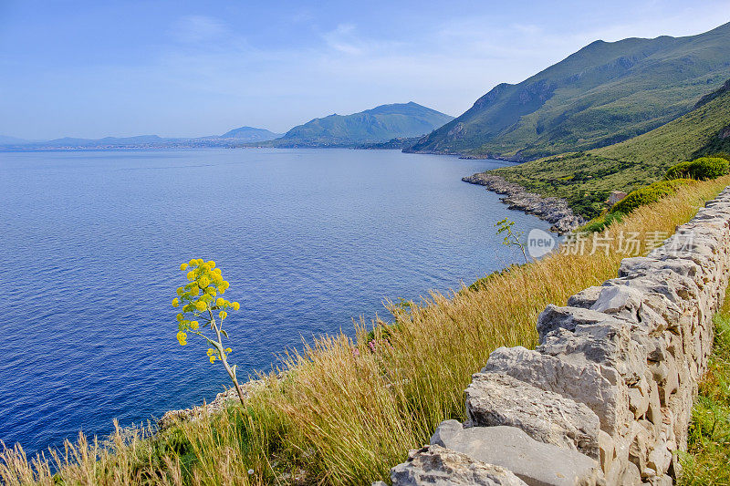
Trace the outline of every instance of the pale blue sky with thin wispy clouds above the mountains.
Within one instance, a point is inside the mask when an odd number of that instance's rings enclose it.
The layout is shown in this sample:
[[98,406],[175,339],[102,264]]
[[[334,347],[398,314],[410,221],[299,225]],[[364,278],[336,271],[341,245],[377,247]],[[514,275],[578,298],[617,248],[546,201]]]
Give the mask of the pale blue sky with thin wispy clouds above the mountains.
[[593,40],[728,21],[728,0],[0,0],[0,134],[286,131],[406,101],[459,115]]

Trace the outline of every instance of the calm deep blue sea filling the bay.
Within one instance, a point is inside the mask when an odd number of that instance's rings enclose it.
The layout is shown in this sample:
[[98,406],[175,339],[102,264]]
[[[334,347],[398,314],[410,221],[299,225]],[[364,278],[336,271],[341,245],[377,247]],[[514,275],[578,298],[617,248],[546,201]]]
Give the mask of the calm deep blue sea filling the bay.
[[[461,181],[496,160],[396,150],[0,152],[0,440],[106,436],[228,385],[175,339],[179,265],[214,260],[239,376],[353,335],[382,302],[449,292],[522,256],[495,222],[546,229]],[[216,363],[217,364],[217,363]]]

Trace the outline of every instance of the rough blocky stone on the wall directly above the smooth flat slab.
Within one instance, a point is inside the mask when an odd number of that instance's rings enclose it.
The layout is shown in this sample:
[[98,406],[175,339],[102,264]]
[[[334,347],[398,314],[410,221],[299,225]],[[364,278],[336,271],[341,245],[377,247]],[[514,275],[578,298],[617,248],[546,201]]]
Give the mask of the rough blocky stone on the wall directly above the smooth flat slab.
[[600,458],[600,420],[590,408],[503,373],[477,373],[466,388],[473,427],[511,426],[532,439]]

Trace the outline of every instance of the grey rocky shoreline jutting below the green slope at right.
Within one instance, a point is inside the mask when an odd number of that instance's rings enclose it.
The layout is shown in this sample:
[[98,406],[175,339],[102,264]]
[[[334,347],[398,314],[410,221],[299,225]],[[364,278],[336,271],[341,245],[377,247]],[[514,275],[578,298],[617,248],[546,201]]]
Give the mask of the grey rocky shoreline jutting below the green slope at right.
[[582,216],[575,214],[564,199],[544,197],[529,192],[514,182],[505,181],[502,177],[485,172],[476,173],[462,179],[470,184],[484,186],[487,191],[503,194],[500,201],[509,205],[509,209],[534,214],[541,220],[552,223],[550,231],[558,234],[570,233],[585,224]]

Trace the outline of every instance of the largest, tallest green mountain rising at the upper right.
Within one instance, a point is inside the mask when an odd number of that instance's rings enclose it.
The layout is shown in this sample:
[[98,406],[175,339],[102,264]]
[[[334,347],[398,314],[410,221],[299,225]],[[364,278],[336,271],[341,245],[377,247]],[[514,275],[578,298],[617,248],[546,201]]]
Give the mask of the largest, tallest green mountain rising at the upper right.
[[501,84],[409,151],[530,160],[655,129],[730,78],[730,24],[698,36],[596,41]]

